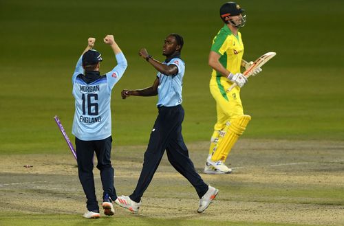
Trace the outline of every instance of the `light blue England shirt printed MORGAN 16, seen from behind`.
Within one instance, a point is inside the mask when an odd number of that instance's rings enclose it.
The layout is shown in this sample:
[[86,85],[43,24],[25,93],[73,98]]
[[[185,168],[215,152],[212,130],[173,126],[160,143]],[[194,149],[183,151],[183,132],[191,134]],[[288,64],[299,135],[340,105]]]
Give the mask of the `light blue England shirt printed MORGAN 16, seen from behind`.
[[111,90],[125,72],[124,54],[116,54],[118,65],[104,76],[98,71],[86,71],[82,56],[72,76],[75,113],[72,133],[84,141],[105,139],[111,135]]

